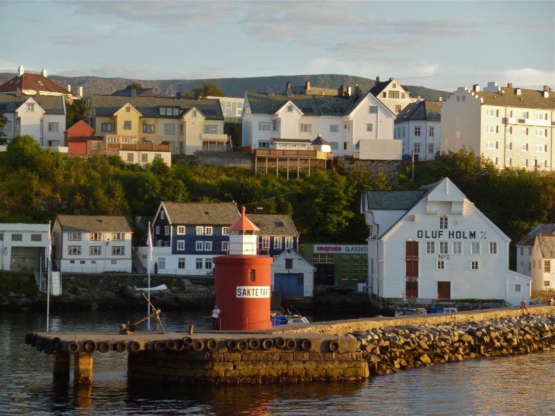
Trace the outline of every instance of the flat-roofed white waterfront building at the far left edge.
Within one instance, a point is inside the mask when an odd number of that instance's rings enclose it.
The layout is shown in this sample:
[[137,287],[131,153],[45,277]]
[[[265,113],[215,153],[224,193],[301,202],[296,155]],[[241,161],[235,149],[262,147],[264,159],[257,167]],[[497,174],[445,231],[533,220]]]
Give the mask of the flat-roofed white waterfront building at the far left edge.
[[49,224],[0,224],[0,270],[44,270]]

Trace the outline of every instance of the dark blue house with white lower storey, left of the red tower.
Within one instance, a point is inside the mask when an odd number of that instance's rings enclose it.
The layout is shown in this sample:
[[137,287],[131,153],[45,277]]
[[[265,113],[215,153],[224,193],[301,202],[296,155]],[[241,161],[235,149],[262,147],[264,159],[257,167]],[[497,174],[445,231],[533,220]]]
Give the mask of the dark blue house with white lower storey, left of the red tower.
[[[151,225],[151,271],[212,275],[212,259],[228,252],[229,228],[238,219],[235,202],[161,202]],[[142,248],[139,259],[145,268],[147,257]]]

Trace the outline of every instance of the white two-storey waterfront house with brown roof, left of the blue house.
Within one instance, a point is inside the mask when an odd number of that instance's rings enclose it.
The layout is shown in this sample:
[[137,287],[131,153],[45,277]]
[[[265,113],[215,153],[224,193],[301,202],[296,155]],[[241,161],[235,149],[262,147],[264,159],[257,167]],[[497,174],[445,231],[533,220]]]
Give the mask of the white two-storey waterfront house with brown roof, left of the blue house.
[[132,237],[124,216],[58,215],[54,262],[61,272],[131,272]]

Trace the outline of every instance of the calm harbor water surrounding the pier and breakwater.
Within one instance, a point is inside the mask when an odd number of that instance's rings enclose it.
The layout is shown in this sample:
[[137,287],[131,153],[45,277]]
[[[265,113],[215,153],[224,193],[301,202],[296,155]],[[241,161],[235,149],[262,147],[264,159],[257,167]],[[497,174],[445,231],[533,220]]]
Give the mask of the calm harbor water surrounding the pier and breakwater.
[[[208,315],[208,313],[205,313]],[[57,331],[117,331],[136,313],[52,314]],[[167,331],[210,319],[162,313]],[[94,355],[92,388],[55,385],[52,357],[25,345],[45,313],[0,313],[0,415],[555,415],[555,351],[434,365],[359,383],[189,386],[130,383],[127,353]],[[151,321],[151,329],[155,322]]]

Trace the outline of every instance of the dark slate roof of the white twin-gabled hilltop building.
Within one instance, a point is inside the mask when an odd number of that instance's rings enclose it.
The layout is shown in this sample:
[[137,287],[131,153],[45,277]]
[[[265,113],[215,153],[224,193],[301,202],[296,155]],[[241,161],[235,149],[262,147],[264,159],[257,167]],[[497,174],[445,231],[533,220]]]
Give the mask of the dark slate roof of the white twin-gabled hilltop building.
[[253,114],[274,114],[288,101],[294,103],[305,116],[344,116],[350,114],[355,106],[369,93],[361,94],[359,98],[342,98],[338,96],[314,96],[305,94],[260,94],[248,92],[250,112]]

